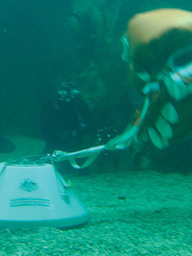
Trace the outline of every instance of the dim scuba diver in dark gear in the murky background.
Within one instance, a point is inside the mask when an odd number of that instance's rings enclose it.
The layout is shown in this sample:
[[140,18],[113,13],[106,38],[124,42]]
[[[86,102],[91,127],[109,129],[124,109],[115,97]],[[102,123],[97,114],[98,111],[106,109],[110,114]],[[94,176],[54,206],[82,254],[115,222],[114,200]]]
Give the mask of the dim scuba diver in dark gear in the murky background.
[[45,103],[40,120],[46,153],[77,150],[93,132],[90,111],[72,83],[60,84],[55,99]]

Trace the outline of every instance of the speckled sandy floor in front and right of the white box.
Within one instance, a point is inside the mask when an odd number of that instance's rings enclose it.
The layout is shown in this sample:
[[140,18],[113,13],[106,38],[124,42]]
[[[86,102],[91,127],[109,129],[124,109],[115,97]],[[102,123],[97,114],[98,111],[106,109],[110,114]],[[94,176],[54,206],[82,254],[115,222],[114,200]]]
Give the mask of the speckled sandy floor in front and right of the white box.
[[0,255],[192,255],[192,174],[70,175],[90,213],[81,228],[0,230]]

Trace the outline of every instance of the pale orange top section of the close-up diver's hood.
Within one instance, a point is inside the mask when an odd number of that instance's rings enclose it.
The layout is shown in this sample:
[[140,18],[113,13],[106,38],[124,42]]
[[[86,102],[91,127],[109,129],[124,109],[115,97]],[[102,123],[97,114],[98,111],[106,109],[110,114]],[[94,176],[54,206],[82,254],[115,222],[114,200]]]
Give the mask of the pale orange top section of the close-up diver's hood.
[[192,13],[180,9],[159,9],[140,13],[128,22],[126,34],[133,45],[147,44],[173,28],[192,32]]

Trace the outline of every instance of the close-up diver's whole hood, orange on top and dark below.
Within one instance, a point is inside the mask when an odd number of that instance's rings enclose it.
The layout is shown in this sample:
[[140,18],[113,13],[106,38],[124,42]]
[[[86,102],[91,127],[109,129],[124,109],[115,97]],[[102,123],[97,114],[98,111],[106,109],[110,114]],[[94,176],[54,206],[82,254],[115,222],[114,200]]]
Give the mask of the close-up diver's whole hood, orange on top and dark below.
[[192,12],[157,9],[139,13],[127,24],[131,65],[157,74],[173,51],[192,44]]

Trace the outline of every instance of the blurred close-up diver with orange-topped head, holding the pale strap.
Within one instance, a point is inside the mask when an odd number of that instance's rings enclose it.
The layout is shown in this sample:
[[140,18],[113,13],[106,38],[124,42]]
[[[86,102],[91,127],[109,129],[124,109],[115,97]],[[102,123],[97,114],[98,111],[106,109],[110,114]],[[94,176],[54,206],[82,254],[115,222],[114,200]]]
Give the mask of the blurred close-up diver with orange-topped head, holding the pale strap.
[[[148,98],[140,134],[167,148],[192,132],[192,13],[159,9],[139,13],[122,36],[129,83]],[[140,120],[138,110],[137,125]]]

